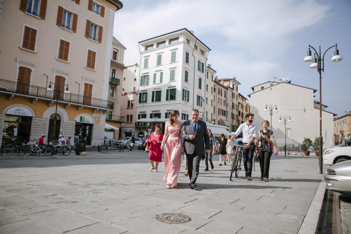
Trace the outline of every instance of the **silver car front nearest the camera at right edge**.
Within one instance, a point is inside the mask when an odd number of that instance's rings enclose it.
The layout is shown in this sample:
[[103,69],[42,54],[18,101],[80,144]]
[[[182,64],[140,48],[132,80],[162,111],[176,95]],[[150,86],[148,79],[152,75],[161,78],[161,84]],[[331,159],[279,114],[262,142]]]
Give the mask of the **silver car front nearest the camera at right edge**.
[[351,196],[351,160],[330,166],[324,180],[327,189]]

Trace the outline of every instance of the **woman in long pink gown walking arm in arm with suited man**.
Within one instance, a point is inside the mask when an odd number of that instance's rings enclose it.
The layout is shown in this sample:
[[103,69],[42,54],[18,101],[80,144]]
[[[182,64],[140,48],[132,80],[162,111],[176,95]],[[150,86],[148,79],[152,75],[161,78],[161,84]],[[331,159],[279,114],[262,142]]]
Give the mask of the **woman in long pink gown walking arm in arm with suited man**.
[[178,121],[179,111],[173,110],[170,114],[170,120],[166,123],[165,136],[161,143],[161,149],[165,146],[165,177],[167,189],[172,185],[177,185],[177,178],[180,170],[181,152],[183,144],[180,139],[180,130],[182,123]]

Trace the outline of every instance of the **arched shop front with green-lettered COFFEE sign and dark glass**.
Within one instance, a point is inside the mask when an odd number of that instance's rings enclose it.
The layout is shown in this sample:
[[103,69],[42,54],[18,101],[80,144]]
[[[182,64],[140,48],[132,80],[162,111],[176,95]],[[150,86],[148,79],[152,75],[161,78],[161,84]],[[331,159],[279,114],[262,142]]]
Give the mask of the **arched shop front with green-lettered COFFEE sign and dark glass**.
[[78,142],[91,145],[94,120],[89,115],[78,115],[75,119],[74,137]]

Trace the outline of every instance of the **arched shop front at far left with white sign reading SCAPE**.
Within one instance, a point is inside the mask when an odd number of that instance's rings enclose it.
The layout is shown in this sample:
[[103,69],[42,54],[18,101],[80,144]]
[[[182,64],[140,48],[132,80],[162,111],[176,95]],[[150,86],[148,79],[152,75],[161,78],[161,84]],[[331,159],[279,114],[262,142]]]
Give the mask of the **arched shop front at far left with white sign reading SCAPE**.
[[29,141],[33,113],[26,107],[13,106],[5,113],[4,129],[2,132],[2,146],[17,138],[17,143]]

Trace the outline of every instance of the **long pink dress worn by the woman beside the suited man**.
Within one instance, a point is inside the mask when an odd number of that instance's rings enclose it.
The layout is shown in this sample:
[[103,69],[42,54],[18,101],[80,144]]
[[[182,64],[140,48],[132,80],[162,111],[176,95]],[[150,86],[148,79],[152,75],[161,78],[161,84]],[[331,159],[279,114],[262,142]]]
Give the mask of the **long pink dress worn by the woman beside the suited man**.
[[165,177],[167,184],[177,185],[178,174],[181,163],[181,151],[183,144],[180,139],[182,123],[174,124],[174,127],[168,122],[168,138],[165,147]]

